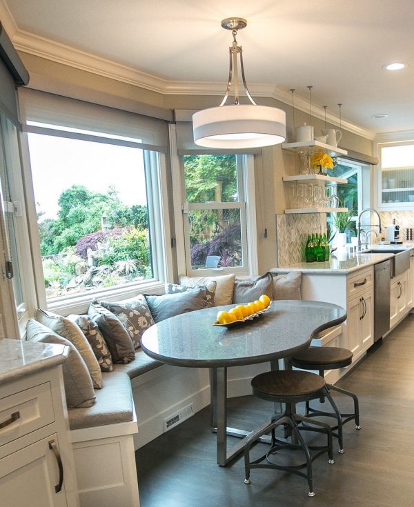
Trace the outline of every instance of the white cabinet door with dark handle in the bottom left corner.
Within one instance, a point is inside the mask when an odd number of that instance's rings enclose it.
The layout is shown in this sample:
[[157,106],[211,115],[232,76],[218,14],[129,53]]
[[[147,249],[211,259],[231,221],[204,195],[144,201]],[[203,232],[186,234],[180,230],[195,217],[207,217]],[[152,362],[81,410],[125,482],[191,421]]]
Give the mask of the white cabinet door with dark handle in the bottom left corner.
[[59,449],[55,434],[0,459],[1,507],[66,506],[65,490],[55,493],[59,466],[51,441]]

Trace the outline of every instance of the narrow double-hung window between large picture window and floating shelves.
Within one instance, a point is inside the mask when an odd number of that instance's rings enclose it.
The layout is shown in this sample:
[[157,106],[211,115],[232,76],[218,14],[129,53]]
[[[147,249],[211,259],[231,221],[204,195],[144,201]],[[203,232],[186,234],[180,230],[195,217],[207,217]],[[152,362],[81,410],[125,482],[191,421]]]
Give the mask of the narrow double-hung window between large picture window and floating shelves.
[[246,198],[241,155],[184,155],[186,271],[248,272]]

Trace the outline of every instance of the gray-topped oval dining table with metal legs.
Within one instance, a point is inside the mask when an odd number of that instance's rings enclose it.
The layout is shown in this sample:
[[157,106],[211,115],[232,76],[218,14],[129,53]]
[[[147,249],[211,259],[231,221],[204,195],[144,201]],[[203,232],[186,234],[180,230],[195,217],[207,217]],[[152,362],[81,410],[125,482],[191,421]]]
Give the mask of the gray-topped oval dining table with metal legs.
[[[141,347],[150,357],[187,368],[210,368],[212,428],[217,433],[217,464],[225,466],[244,449],[248,432],[227,428],[227,368],[269,361],[278,368],[307,348],[319,332],[346,319],[344,308],[321,301],[272,301],[268,310],[232,327],[213,326],[215,306],[186,312],[154,324],[144,332]],[[266,421],[267,422],[267,421]],[[257,428],[255,428],[257,429]],[[242,437],[227,449],[227,435]]]

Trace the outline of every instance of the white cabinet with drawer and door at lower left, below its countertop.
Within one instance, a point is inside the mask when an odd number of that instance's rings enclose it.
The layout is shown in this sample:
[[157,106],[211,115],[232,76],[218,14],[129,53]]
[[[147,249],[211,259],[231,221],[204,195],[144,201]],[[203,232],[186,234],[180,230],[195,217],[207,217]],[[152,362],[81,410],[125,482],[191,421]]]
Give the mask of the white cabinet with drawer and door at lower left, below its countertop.
[[63,403],[60,365],[1,384],[1,507],[79,507]]

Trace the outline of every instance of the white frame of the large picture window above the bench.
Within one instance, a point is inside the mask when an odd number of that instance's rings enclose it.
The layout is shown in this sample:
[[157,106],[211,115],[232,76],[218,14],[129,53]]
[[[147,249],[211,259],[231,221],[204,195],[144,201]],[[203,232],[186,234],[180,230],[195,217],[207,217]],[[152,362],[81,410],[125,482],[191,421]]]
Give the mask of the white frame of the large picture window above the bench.
[[[60,132],[59,132],[60,134]],[[50,135],[50,132],[48,132]],[[70,136],[72,138],[72,135]],[[83,139],[88,136],[80,135]],[[88,139],[89,140],[89,139]],[[99,142],[103,142],[99,139]],[[112,144],[112,139],[110,140]],[[119,301],[120,299],[127,299],[137,294],[142,293],[160,293],[164,292],[164,284],[168,280],[172,280],[172,252],[170,248],[166,248],[170,244],[170,223],[168,219],[168,189],[167,189],[167,175],[166,175],[166,157],[164,153],[160,152],[144,152],[144,157],[148,156],[159,157],[157,174],[154,174],[154,166],[152,171],[146,169],[146,177],[150,177],[150,183],[147,181],[148,187],[148,210],[152,212],[152,217],[159,220],[160,226],[152,227],[150,234],[152,239],[153,255],[156,257],[155,273],[157,279],[149,279],[139,283],[125,284],[124,286],[97,289],[83,292],[79,295],[63,296],[55,298],[53,301],[46,300],[46,290],[44,286],[43,267],[41,262],[41,250],[39,241],[39,226],[37,223],[36,203],[34,198],[34,189],[32,182],[32,172],[30,166],[30,152],[28,143],[28,134],[25,132],[22,135],[22,160],[23,160],[23,175],[25,180],[26,192],[26,206],[28,210],[28,226],[30,231],[30,243],[26,243],[26,252],[31,253],[32,265],[34,270],[34,290],[32,297],[32,308],[29,309],[29,315],[34,315],[36,307],[48,308],[53,312],[61,315],[68,315],[71,312],[81,313],[86,312],[90,301],[93,297],[98,299],[105,298],[108,301]],[[122,143],[120,143],[122,144]],[[137,149],[142,149],[141,146],[133,146]],[[154,159],[155,161],[155,159]],[[148,164],[146,164],[148,167]],[[159,197],[157,198],[157,192]],[[155,199],[159,199],[159,207],[151,206]],[[36,302],[37,301],[37,304]]]

